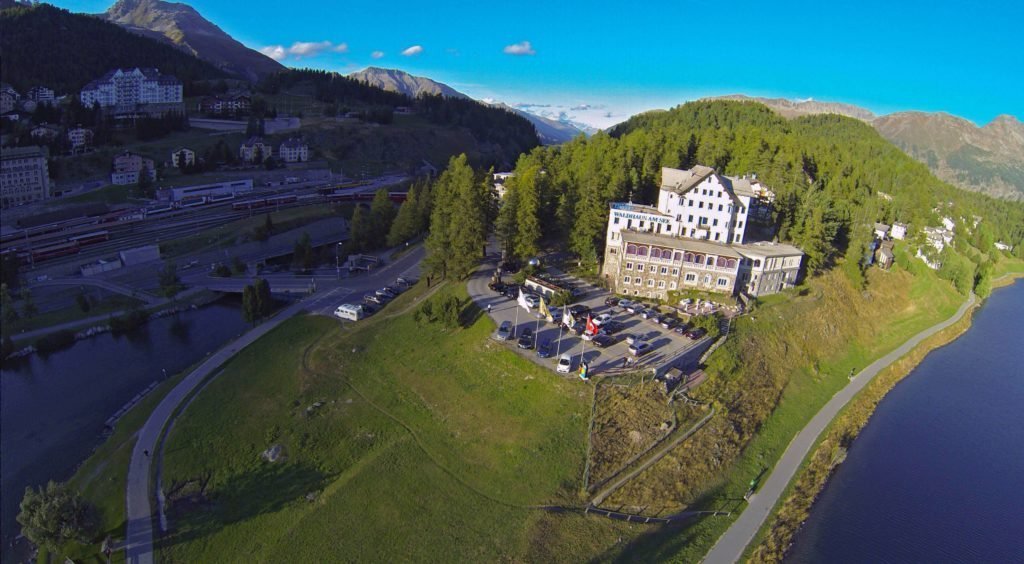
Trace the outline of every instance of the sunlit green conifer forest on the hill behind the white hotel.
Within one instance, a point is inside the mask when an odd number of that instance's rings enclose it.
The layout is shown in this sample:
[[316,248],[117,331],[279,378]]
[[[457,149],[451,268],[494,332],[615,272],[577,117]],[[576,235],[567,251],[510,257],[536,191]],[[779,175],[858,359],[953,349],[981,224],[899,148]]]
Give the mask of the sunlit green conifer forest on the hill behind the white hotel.
[[867,124],[825,115],[788,121],[760,103],[722,100],[637,116],[610,134],[524,156],[499,229],[520,256],[554,237],[596,262],[609,202],[653,203],[663,166],[695,164],[757,174],[770,186],[777,197],[772,227],[807,252],[812,272],[844,255],[863,256],[876,221],[920,228],[937,225],[940,215],[980,216],[974,236],[987,247],[1001,240],[1019,249],[1024,240],[1024,206],[938,180]]

